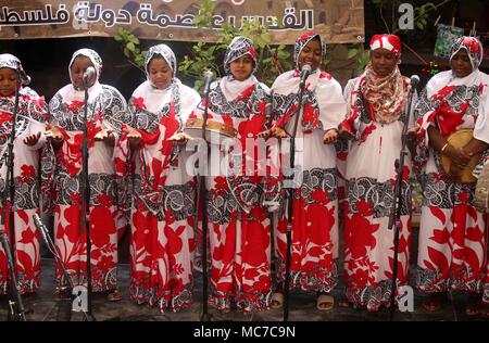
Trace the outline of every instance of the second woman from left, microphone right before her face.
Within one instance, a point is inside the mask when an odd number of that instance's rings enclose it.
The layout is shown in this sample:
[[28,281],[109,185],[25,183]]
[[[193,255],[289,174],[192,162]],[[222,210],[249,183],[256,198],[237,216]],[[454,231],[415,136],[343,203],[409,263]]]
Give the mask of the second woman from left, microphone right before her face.
[[[88,79],[88,113],[84,122],[84,74]],[[54,244],[75,285],[85,284],[86,232],[80,228],[80,172],[83,128],[88,134],[88,183],[91,241],[91,282],[95,292],[109,292],[109,300],[120,300],[117,291],[117,232],[126,221],[117,209],[114,144],[122,125],[128,120],[127,104],[113,87],[99,82],[102,60],[90,49],[73,54],[68,65],[71,84],[61,88],[49,102],[49,139],[55,150],[53,177]],[[67,281],[57,265],[57,294],[65,296]]]

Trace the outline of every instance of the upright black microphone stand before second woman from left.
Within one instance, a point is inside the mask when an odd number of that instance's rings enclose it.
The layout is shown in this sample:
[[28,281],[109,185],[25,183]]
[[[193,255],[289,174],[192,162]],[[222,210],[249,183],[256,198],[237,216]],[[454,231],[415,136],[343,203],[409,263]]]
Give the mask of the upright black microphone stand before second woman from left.
[[88,117],[88,77],[84,75],[84,90],[85,90],[85,103],[84,103],[84,125],[83,132],[84,139],[82,143],[82,173],[80,173],[80,232],[86,233],[87,239],[87,320],[96,320],[92,315],[92,287],[91,287],[91,241],[90,241],[90,228],[88,220],[88,209],[90,201],[90,185],[88,183],[88,135],[87,135],[87,117]]

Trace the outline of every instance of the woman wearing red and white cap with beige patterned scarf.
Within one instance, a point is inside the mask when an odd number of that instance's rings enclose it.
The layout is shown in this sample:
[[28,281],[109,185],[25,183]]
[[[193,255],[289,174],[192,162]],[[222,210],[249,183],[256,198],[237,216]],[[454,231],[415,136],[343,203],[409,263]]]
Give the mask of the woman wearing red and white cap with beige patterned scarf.
[[[401,41],[375,35],[365,72],[348,81],[349,114],[341,136],[352,139],[347,158],[344,223],[346,300],[340,305],[377,310],[390,304],[393,232],[389,228],[396,166],[408,107],[410,79],[401,75]],[[415,104],[416,93],[412,99]],[[411,106],[413,112],[414,105]],[[414,123],[410,114],[408,126]],[[400,217],[398,287],[409,282],[411,245],[411,156],[405,157]]]

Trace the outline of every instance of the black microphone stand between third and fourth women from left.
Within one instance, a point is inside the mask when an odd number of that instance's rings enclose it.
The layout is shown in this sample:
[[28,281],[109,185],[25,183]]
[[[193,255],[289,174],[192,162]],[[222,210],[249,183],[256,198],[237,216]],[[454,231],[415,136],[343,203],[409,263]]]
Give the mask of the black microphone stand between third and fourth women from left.
[[[202,122],[202,141],[205,144],[205,151],[208,152],[209,145],[206,141],[206,126],[208,126],[208,117],[209,117],[209,85],[205,85],[203,97],[205,99],[204,112],[203,112],[203,122]],[[205,154],[206,156],[206,154]],[[208,161],[199,161],[199,169],[202,166],[205,166]],[[200,316],[201,321],[211,321],[211,315],[209,314],[209,293],[208,293],[208,190],[205,189],[205,175],[202,170],[199,170],[199,177],[197,179],[197,199],[196,199],[196,212],[195,212],[195,231],[197,232],[197,228],[199,227],[199,207],[200,207],[200,199],[202,196],[202,314]]]

